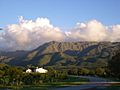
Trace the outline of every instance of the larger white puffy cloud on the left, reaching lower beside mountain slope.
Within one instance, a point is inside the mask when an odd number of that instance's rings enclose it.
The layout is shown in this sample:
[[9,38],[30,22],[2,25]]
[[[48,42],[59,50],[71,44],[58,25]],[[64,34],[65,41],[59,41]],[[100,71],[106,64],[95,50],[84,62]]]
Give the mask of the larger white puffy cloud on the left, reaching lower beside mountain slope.
[[22,16],[18,24],[5,27],[0,37],[0,49],[4,50],[31,50],[45,42],[64,40],[63,32],[47,18],[32,21]]

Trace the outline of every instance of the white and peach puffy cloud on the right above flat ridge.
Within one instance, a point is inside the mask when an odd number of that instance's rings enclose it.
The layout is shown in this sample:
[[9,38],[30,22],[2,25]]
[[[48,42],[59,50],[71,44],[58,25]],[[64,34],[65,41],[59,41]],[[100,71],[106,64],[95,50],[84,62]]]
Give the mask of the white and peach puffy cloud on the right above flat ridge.
[[65,33],[68,41],[120,42],[120,25],[105,26],[97,20],[77,23]]

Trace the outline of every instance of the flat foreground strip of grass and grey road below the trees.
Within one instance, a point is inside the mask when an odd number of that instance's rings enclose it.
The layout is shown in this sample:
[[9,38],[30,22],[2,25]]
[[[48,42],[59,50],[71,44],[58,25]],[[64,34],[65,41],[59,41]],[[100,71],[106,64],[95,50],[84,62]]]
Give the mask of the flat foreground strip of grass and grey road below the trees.
[[[70,76],[68,82],[51,83],[51,85],[41,86],[24,86],[23,88],[15,88],[15,90],[120,90],[120,82],[112,82],[108,79],[91,76]],[[75,82],[75,80],[78,80]],[[82,80],[82,82],[78,82]],[[89,80],[89,81],[88,81]],[[72,82],[73,81],[73,82]],[[14,90],[14,89],[0,89]]]

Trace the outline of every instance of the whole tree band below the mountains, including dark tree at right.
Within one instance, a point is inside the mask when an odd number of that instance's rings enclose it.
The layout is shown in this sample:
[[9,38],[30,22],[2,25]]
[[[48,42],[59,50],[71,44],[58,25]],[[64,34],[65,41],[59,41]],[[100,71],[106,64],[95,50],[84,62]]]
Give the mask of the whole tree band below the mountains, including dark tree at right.
[[40,85],[60,82],[69,75],[91,75],[100,77],[114,77],[120,79],[120,51],[108,61],[107,67],[54,69],[47,67],[48,73],[26,73],[25,68],[0,64],[0,85]]

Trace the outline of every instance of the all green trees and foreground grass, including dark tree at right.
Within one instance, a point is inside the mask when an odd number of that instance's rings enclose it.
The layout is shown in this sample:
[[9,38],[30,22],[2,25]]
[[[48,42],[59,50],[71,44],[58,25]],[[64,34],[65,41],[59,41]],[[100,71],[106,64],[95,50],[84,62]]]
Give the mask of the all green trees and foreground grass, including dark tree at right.
[[[81,82],[88,82],[88,79],[71,77],[71,75],[89,75],[99,77],[116,77],[120,79],[120,53],[109,60],[108,67],[78,67],[66,66],[56,67],[48,66],[46,69],[48,73],[26,73],[28,67],[35,68],[35,66],[28,65],[25,67],[9,66],[7,64],[0,64],[0,87],[20,87],[46,90],[52,86],[67,86],[79,85]],[[40,87],[38,87],[40,86]],[[32,90],[32,89],[31,89]]]

